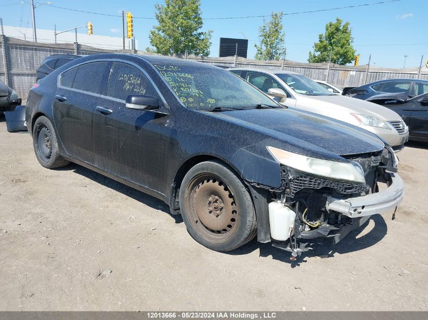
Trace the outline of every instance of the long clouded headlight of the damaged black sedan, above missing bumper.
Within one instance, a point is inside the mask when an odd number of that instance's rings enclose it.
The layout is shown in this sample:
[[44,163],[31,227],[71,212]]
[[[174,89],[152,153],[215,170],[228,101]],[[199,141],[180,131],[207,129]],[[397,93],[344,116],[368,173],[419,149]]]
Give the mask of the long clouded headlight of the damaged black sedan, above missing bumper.
[[364,171],[358,162],[338,162],[300,155],[275,147],[267,147],[279,163],[298,171],[312,173],[326,178],[366,183]]

